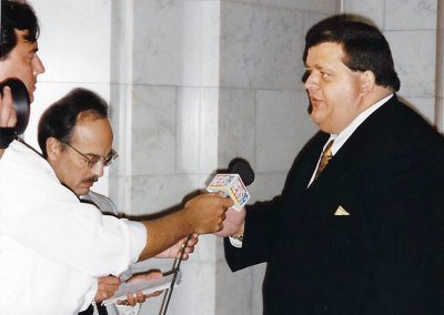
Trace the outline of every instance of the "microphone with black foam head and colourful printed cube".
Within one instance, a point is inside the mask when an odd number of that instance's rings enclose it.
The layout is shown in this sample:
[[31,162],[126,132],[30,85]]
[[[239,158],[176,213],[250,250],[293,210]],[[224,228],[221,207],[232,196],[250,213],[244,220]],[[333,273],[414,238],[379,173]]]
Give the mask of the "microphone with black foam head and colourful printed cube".
[[254,171],[250,163],[241,158],[235,158],[230,162],[228,172],[216,174],[208,185],[206,191],[211,193],[222,192],[225,196],[231,197],[234,203],[233,207],[241,211],[250,200],[246,186],[253,181]]

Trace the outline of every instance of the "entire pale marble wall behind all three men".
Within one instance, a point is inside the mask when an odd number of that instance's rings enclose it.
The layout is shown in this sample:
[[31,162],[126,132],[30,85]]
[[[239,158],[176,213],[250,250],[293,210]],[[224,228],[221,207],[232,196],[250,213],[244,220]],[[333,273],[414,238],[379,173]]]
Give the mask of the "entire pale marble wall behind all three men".
[[[36,121],[49,103],[73,87],[98,91],[111,103],[120,159],[94,189],[130,215],[174,207],[234,156],[255,170],[253,201],[278,194],[295,154],[316,130],[301,83],[303,37],[341,10],[365,14],[384,31],[401,96],[442,123],[442,89],[435,110],[437,0],[31,3],[42,24],[47,72],[27,140],[34,141]],[[138,268],[165,271],[172,263],[151,260]],[[169,314],[262,313],[264,265],[231,273],[221,240],[202,236],[182,270]],[[143,314],[158,314],[161,302],[150,299]]]

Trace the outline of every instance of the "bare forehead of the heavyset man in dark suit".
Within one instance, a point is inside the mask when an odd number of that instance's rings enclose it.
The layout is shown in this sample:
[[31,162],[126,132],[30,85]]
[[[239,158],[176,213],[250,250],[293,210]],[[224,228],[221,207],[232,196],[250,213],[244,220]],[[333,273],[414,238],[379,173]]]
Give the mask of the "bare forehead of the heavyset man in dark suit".
[[334,64],[344,64],[344,50],[335,42],[323,42],[309,49],[306,67],[323,68]]

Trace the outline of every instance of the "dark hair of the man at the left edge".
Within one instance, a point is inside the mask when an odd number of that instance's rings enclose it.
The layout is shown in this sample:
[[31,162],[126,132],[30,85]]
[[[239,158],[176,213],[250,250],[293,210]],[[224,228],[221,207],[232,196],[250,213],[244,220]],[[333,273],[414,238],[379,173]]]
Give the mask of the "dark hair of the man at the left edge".
[[40,29],[34,9],[26,1],[1,0],[0,60],[8,58],[17,44],[14,30],[27,31],[27,41],[37,41]]

